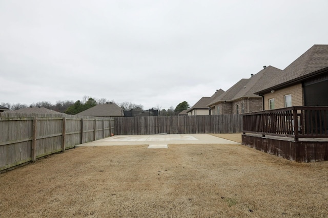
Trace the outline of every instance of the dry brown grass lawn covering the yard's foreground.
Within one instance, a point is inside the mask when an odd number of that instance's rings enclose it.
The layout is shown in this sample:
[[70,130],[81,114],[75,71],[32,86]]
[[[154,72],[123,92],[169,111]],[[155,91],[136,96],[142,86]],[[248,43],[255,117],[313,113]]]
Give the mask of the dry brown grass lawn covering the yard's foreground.
[[243,145],[78,147],[0,175],[0,217],[326,217],[328,162]]

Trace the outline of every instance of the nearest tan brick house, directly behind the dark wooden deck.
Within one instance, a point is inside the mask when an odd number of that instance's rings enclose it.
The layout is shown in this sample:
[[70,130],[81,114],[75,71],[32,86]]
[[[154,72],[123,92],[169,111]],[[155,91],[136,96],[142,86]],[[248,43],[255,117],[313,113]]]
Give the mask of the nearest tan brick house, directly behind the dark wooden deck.
[[327,93],[328,45],[314,45],[255,92],[264,97],[264,110],[328,106]]

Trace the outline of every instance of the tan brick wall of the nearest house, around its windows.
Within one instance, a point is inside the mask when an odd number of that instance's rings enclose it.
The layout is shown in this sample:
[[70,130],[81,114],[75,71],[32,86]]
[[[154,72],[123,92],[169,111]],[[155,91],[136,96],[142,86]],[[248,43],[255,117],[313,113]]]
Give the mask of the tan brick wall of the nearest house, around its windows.
[[284,96],[292,95],[292,106],[303,106],[302,84],[289,86],[288,88],[275,90],[274,93],[264,95],[264,110],[269,110],[269,99],[275,99],[275,109],[284,107]]

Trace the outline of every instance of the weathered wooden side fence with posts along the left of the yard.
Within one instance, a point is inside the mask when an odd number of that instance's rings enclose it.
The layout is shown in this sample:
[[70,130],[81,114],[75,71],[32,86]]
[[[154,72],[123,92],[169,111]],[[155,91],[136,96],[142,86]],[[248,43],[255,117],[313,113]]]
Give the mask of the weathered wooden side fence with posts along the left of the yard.
[[109,137],[113,130],[112,118],[0,117],[0,172]]

